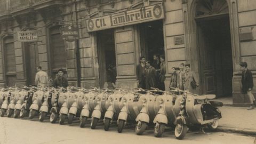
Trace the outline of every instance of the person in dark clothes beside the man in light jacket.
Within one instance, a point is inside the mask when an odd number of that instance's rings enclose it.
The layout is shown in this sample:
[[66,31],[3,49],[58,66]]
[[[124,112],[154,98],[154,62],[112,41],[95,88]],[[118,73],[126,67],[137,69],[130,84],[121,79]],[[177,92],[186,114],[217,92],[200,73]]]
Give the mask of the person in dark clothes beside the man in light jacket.
[[59,69],[57,77],[55,77],[55,79],[53,81],[54,87],[67,87],[68,86],[68,80],[63,75],[64,75],[64,70]]

